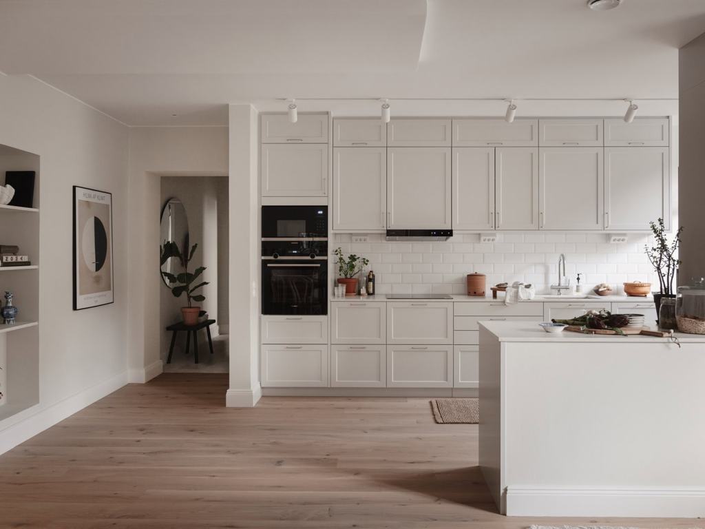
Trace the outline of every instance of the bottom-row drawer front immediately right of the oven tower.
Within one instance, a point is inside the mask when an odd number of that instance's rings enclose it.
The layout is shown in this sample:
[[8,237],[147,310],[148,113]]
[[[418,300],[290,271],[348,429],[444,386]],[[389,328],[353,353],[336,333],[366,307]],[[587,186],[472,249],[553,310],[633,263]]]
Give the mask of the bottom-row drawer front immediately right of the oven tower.
[[386,387],[385,346],[331,346],[332,387]]

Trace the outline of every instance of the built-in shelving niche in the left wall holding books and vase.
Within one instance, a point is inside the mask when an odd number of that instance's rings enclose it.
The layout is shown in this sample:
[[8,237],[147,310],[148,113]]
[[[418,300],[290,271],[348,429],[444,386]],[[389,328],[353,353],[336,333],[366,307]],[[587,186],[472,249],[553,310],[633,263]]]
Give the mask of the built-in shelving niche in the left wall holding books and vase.
[[35,171],[31,208],[0,206],[0,244],[18,245],[29,267],[0,267],[0,300],[13,291],[20,309],[16,324],[0,317],[0,429],[3,422],[39,403],[39,155],[0,145],[0,183],[5,171]]

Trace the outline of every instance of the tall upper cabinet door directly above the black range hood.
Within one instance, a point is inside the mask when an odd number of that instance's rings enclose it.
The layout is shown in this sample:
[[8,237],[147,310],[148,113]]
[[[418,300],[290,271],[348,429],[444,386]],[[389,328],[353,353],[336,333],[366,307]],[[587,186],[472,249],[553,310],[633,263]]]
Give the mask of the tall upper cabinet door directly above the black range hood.
[[387,149],[387,228],[450,229],[450,147]]

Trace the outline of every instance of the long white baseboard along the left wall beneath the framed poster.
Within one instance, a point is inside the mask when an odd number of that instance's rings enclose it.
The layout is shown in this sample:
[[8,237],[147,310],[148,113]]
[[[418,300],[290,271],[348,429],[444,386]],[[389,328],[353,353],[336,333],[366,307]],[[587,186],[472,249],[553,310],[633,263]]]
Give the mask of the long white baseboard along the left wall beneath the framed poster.
[[113,391],[117,391],[127,383],[128,373],[127,371],[123,371],[114,377],[99,382],[47,408],[37,406],[36,413],[27,415],[24,420],[15,422],[13,425],[0,431],[0,454],[4,454],[4,452],[13,449],[18,444],[47,430],[47,428],[54,426],[57,422],[81,411],[86,406],[102,399]]

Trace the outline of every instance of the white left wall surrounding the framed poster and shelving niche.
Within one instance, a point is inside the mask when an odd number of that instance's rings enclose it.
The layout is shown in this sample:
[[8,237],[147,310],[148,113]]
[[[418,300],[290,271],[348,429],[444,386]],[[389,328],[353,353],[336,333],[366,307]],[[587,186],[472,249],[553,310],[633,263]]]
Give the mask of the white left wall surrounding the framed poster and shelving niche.
[[[0,75],[0,144],[39,154],[37,408],[0,428],[0,452],[127,381],[128,128],[29,76]],[[113,193],[115,303],[72,308],[72,186]],[[20,300],[18,300],[20,305]],[[21,309],[21,307],[20,307]],[[51,410],[49,410],[51,408]],[[31,415],[31,416],[30,416]]]

